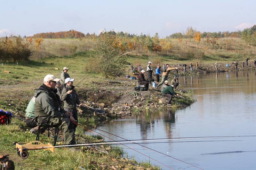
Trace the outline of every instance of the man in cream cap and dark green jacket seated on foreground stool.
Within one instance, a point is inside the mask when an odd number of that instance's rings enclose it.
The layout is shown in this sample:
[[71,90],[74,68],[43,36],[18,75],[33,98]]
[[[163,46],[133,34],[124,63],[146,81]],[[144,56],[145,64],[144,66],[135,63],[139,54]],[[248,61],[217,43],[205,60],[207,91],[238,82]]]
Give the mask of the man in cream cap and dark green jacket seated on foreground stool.
[[35,91],[35,119],[37,124],[56,126],[63,131],[65,144],[75,144],[72,113],[60,108],[60,97],[55,89],[57,79],[51,74],[44,77],[44,83]]

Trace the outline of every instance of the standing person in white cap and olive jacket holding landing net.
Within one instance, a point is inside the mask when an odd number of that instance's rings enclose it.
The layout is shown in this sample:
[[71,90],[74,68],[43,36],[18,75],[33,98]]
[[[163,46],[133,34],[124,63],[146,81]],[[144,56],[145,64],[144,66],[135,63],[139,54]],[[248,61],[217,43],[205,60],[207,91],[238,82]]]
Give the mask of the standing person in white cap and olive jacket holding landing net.
[[[77,117],[77,110],[76,110],[76,104],[79,104],[79,106],[82,105],[80,102],[76,90],[74,89],[75,86],[73,86],[73,81],[75,79],[66,78],[65,83],[66,87],[62,89],[60,100],[64,101],[64,110],[72,113],[74,119],[78,121]],[[74,131],[76,131],[76,124],[73,124]]]

